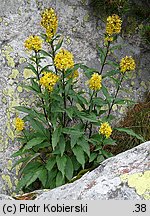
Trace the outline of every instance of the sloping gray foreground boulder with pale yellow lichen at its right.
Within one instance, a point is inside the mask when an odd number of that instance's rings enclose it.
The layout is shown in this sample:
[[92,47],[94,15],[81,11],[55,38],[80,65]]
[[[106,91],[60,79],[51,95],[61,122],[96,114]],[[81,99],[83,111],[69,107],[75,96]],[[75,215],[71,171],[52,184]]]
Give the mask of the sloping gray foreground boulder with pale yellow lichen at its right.
[[36,200],[150,200],[150,141],[105,160],[71,184]]

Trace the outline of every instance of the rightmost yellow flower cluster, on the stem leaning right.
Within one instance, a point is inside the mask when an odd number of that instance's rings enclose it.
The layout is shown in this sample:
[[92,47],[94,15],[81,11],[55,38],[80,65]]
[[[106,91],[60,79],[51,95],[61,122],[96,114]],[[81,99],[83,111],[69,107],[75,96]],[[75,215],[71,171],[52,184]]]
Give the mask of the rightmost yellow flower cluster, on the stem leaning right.
[[126,71],[135,70],[135,61],[131,56],[126,56],[121,59],[120,71],[125,73]]

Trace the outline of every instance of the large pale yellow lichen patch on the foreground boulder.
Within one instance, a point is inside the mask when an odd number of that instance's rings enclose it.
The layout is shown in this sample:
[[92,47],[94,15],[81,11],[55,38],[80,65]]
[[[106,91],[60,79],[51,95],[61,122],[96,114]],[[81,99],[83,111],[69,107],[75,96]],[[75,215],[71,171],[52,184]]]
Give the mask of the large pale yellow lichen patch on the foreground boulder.
[[150,200],[150,171],[144,173],[123,174],[121,181],[127,182],[129,187],[135,188],[138,195]]

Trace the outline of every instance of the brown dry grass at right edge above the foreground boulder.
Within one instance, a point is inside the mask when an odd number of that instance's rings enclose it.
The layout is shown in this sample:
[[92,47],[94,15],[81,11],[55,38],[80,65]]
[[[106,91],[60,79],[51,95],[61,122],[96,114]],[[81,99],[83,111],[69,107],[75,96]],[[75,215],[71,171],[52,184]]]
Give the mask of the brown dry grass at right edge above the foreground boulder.
[[[142,135],[145,140],[150,140],[150,92],[146,94],[143,102],[128,109],[126,116],[119,123],[119,127],[130,128],[135,133]],[[114,155],[141,144],[140,140],[119,131],[114,131],[112,138],[116,140],[117,145],[106,146],[106,149]]]

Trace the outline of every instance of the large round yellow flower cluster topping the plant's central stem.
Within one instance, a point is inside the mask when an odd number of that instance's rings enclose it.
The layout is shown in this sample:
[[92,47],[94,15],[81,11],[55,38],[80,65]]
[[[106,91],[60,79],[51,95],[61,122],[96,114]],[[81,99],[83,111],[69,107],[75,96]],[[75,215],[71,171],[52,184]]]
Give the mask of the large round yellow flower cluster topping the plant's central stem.
[[67,70],[74,66],[73,55],[68,50],[61,49],[55,56],[54,64],[59,70]]

